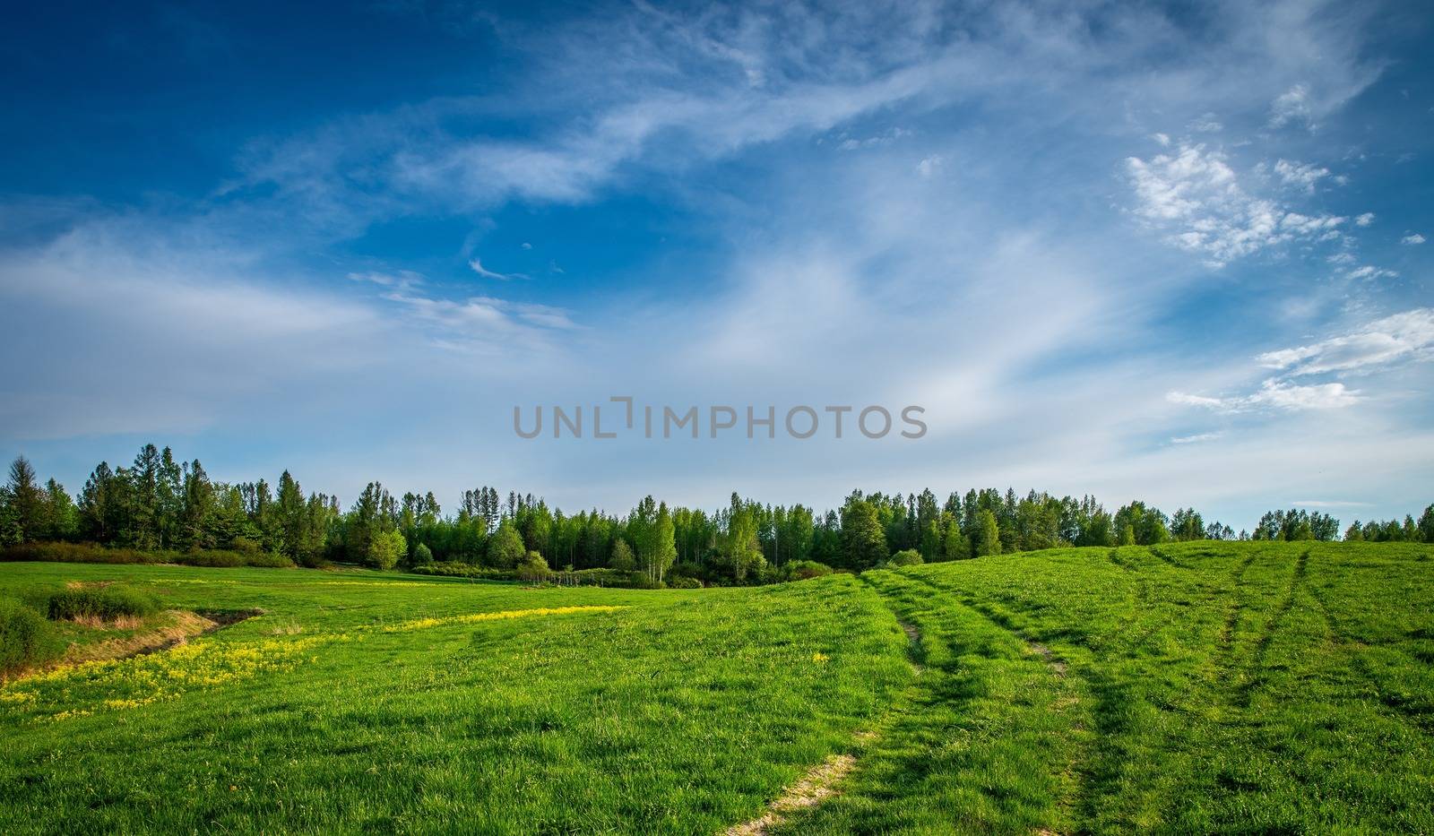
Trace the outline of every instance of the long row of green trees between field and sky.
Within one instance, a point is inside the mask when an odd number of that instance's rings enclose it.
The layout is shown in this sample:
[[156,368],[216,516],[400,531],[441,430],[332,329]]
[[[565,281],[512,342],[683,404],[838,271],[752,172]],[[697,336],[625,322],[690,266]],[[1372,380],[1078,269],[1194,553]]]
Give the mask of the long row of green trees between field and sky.
[[[1156,545],[1193,539],[1339,538],[1339,521],[1304,509],[1265,513],[1253,532],[1206,522],[1193,508],[1166,515],[1136,500],[1107,510],[1094,496],[997,489],[949,493],[853,490],[839,509],[763,505],[737,493],[714,512],[644,498],[627,515],[564,513],[532,493],[480,486],[445,515],[432,492],[402,496],[370,482],[343,510],[336,496],[304,493],[285,470],[275,486],[209,479],[198,459],[145,445],[126,466],[100,462],[70,496],[40,483],[23,456],[0,488],[0,545],[67,541],[142,551],[268,552],[300,565],[379,569],[465,564],[496,571],[551,565],[632,572],[645,584],[695,578],[757,584],[822,565],[868,569],[1063,545]],[[1358,521],[1345,539],[1434,542],[1434,505],[1418,521]]]

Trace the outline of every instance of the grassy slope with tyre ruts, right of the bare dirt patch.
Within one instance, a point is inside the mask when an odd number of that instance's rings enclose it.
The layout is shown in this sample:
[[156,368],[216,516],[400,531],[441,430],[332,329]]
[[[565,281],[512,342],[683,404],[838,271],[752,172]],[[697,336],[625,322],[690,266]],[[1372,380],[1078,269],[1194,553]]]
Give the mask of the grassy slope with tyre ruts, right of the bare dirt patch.
[[787,830],[1431,832],[1430,556],[1186,543],[869,574],[926,670]]

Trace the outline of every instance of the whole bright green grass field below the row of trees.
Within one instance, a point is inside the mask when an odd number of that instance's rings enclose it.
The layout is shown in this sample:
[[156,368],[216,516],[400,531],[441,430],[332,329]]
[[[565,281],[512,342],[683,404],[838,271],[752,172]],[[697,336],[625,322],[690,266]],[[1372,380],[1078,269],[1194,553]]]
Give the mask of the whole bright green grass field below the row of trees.
[[776,832],[1427,833],[1431,558],[1196,542],[694,591],[10,564],[20,598],[264,614],[0,690],[0,832],[720,833],[846,754]]

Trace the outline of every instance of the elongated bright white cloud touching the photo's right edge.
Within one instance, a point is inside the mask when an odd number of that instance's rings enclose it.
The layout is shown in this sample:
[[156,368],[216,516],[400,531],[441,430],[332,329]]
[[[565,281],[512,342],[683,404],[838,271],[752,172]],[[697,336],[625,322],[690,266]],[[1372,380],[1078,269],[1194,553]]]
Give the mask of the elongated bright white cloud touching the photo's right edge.
[[1368,370],[1434,356],[1434,308],[1415,308],[1375,320],[1358,331],[1309,346],[1268,351],[1255,360],[1286,374]]

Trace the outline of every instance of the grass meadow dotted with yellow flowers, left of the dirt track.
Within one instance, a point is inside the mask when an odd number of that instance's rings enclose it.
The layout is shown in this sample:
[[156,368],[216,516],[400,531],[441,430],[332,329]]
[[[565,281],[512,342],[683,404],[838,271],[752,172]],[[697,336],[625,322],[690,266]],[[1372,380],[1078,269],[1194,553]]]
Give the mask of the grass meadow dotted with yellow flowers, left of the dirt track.
[[[714,832],[849,746],[909,678],[891,614],[850,576],[642,592],[4,574],[20,592],[116,578],[163,607],[265,615],[0,691],[6,833]],[[604,609],[536,612],[572,607]]]

